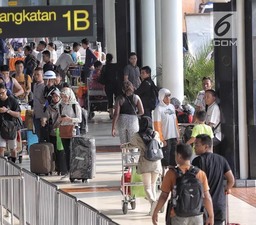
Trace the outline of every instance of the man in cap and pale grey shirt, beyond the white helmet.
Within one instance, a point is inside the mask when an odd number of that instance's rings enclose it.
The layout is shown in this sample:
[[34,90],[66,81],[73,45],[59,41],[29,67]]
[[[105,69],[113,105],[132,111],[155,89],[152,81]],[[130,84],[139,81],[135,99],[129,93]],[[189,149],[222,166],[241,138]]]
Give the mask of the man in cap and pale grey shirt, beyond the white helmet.
[[65,81],[66,79],[66,71],[68,69],[68,66],[76,66],[76,64],[72,60],[71,54],[71,46],[67,46],[55,64],[57,66],[57,71],[60,73],[61,79],[63,81]]

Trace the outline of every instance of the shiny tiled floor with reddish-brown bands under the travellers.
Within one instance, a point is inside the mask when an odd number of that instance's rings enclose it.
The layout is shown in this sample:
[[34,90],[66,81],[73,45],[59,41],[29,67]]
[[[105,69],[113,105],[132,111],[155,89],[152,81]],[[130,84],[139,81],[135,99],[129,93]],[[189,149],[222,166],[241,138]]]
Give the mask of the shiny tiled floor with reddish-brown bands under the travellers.
[[[123,197],[119,191],[122,160],[121,153],[116,152],[119,151],[119,138],[111,137],[111,123],[95,124],[92,122],[89,124],[89,129],[89,135],[95,136],[97,146],[101,146],[97,148],[99,151],[97,153],[96,177],[85,183],[75,181],[74,184],[60,180],[59,176],[42,176],[42,178],[51,181],[59,188],[76,196],[79,200],[95,207],[119,224],[152,224],[149,216],[150,206],[146,199],[136,199],[135,210],[131,210],[129,205],[128,213],[124,215],[122,212]],[[113,150],[111,147],[106,147],[109,145],[116,146],[114,152],[111,151]],[[28,156],[24,156],[21,166],[29,169]],[[229,222],[236,222],[241,225],[256,225],[255,191],[255,188],[233,189],[233,195],[229,196]],[[165,224],[165,213],[159,213],[158,224]]]

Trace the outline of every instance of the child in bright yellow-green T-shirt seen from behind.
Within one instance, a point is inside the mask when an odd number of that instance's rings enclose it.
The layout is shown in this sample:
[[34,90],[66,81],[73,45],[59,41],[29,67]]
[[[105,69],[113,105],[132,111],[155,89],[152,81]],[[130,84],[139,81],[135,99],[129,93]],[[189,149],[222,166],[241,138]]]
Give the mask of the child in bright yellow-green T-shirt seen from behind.
[[[212,128],[205,124],[206,112],[204,110],[198,110],[196,112],[196,119],[199,124],[193,128],[191,138],[187,141],[187,144],[194,143],[197,135],[209,135],[211,138],[214,138]],[[191,157],[191,162],[193,161],[195,156],[195,146],[193,146],[193,155]]]

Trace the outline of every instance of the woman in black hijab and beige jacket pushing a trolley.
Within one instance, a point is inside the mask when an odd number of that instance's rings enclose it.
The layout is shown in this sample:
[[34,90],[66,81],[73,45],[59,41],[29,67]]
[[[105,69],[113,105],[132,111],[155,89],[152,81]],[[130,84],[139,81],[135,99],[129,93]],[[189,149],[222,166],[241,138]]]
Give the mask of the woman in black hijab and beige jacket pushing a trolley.
[[[138,161],[137,173],[141,174],[145,193],[151,204],[150,216],[153,215],[156,202],[156,181],[159,174],[162,174],[161,161],[149,161],[144,157],[146,144],[150,139],[156,139],[159,145],[163,145],[157,131],[153,130],[153,121],[149,116],[143,116],[140,120],[140,129],[129,144],[123,145],[126,149],[139,148],[140,158]],[[122,147],[122,146],[121,146]]]

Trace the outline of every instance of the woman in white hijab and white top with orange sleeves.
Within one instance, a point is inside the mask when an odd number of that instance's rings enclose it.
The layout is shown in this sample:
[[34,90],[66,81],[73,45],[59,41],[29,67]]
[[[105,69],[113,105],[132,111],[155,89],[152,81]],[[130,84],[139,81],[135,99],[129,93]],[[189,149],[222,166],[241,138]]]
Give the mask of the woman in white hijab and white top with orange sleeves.
[[158,93],[159,104],[154,110],[154,128],[158,131],[161,141],[163,141],[163,155],[161,160],[163,166],[163,176],[165,166],[173,168],[175,162],[175,148],[179,143],[179,126],[174,106],[171,102],[170,90],[162,88]]

